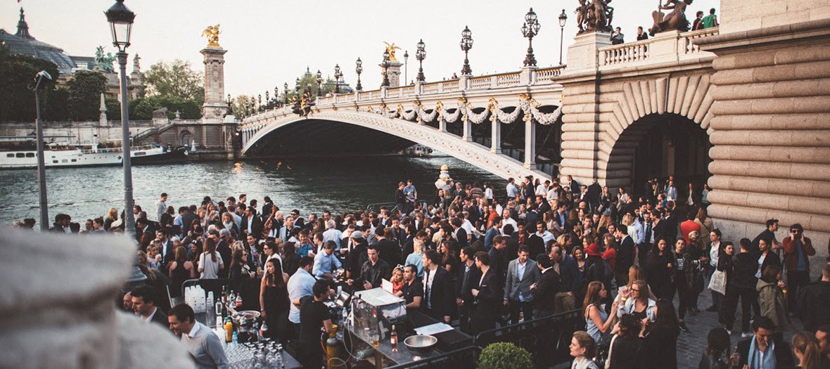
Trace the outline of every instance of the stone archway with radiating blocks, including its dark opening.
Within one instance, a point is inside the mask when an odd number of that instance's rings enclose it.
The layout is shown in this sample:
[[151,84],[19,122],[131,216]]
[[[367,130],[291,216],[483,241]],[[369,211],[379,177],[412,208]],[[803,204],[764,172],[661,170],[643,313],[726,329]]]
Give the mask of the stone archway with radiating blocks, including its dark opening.
[[647,177],[676,174],[679,186],[691,182],[699,191],[710,176],[713,101],[709,74],[624,82],[600,124],[605,184],[638,193]]

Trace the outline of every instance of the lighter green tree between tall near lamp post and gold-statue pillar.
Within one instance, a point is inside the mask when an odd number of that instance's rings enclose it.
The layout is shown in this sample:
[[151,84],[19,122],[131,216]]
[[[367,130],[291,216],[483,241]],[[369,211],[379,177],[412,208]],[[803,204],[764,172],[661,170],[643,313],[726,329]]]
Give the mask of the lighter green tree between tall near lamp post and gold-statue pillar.
[[170,95],[204,103],[203,73],[193,70],[188,61],[159,61],[144,73],[147,96]]

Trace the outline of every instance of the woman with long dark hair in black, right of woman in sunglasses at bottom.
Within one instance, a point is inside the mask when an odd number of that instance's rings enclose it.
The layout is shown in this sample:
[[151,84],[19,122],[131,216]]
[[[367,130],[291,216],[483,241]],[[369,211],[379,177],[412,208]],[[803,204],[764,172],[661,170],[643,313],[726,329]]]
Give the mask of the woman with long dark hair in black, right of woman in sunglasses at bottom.
[[643,352],[648,353],[649,368],[677,368],[677,336],[680,325],[677,322],[671,299],[657,300],[657,318],[647,328]]

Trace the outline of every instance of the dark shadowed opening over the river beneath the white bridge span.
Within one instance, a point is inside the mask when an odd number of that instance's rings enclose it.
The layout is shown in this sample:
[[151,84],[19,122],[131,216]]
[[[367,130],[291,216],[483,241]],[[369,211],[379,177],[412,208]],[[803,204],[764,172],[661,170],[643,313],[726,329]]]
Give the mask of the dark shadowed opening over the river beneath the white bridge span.
[[291,158],[396,153],[412,141],[375,129],[332,120],[306,119],[266,134],[247,157]]

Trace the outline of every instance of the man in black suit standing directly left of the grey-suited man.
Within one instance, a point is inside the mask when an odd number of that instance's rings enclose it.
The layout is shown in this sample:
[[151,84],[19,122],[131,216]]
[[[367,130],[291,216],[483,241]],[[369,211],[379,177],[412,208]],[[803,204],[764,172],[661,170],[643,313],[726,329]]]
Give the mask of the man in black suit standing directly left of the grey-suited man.
[[490,255],[484,251],[476,252],[476,266],[481,270],[481,279],[470,291],[476,308],[470,322],[472,335],[496,328],[499,300],[504,294],[500,275],[490,268]]

